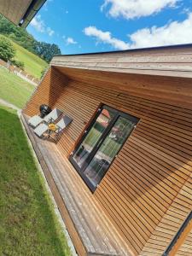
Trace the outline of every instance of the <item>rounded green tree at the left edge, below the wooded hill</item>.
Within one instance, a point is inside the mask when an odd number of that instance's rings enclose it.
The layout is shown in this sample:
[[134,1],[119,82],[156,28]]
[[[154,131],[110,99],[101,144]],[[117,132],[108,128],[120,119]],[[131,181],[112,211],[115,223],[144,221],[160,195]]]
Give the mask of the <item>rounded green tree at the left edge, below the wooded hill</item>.
[[0,58],[9,61],[15,56],[15,48],[8,38],[0,35]]

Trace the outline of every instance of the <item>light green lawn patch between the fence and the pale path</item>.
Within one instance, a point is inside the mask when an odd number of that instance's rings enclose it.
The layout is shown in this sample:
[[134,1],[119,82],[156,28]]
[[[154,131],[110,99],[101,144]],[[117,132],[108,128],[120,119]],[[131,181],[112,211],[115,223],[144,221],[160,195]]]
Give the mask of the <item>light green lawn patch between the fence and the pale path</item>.
[[18,108],[23,108],[33,90],[35,86],[0,67],[0,98]]

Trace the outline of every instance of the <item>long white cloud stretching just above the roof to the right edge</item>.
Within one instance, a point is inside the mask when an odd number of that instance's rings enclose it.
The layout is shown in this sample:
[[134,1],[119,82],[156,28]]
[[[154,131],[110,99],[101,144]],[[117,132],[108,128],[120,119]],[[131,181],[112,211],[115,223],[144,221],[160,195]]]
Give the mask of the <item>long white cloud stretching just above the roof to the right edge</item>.
[[166,26],[143,28],[128,35],[129,42],[113,38],[111,32],[102,32],[96,26],[84,28],[84,34],[96,38],[97,42],[110,44],[114,49],[137,49],[192,42],[192,12],[186,20],[172,21]]

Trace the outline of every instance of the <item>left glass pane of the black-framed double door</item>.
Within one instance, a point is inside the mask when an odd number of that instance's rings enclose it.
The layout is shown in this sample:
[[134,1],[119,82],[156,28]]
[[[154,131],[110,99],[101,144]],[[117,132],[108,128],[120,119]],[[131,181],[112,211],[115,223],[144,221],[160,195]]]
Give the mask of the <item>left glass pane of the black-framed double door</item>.
[[108,124],[113,119],[114,113],[108,109],[103,108],[102,112],[99,114],[94,125],[92,125],[87,136],[84,138],[83,143],[79,145],[79,148],[73,155],[73,160],[82,167],[84,162],[88,159],[90,152],[96,146],[96,143],[99,141],[102,133],[108,127]]

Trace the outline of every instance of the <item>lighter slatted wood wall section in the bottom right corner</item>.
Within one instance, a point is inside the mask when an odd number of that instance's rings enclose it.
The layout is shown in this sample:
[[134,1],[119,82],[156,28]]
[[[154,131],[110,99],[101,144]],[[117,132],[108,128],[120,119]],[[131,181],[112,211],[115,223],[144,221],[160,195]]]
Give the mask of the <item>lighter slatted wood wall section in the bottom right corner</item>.
[[[156,226],[151,234],[148,242],[143,247],[141,255],[155,256],[161,255],[166,247],[172,241],[173,236],[176,235],[178,229],[183,224],[185,218],[189,215],[192,209],[192,174],[183,184],[183,187],[177,193],[177,196],[172,201],[171,206],[166,211],[166,214],[161,219],[160,223]],[[189,256],[192,255],[192,232],[187,235],[189,229],[184,230],[182,236],[178,239],[175,247],[172,249],[172,255]],[[183,241],[183,236],[187,236]],[[169,243],[167,244],[167,242]],[[167,244],[167,246],[166,246]],[[177,253],[176,253],[177,252]]]

